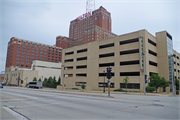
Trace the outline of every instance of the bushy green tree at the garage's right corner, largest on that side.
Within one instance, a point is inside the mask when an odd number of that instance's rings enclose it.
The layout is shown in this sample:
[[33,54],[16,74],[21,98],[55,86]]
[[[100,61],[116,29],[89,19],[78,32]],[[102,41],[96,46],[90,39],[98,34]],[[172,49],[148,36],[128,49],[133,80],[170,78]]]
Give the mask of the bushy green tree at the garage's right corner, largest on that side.
[[156,87],[157,93],[158,87],[167,87],[169,86],[169,82],[164,77],[160,77],[158,74],[152,74],[150,76],[149,86]]

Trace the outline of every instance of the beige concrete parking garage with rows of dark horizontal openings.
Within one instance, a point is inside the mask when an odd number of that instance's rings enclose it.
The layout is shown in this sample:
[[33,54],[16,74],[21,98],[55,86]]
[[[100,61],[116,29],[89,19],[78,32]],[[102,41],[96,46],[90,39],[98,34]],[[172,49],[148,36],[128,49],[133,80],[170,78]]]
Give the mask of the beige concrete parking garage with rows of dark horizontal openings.
[[[86,84],[87,89],[103,89],[103,71],[106,71],[106,67],[110,65],[113,73],[111,89],[124,88],[123,78],[129,76],[128,90],[143,91],[142,52],[145,53],[147,77],[155,73],[169,81],[171,78],[167,35],[169,34],[166,31],[158,32],[153,36],[146,30],[140,30],[64,49],[62,64],[67,68],[64,70],[66,76],[64,86],[72,88]],[[106,78],[105,82],[107,83]]]

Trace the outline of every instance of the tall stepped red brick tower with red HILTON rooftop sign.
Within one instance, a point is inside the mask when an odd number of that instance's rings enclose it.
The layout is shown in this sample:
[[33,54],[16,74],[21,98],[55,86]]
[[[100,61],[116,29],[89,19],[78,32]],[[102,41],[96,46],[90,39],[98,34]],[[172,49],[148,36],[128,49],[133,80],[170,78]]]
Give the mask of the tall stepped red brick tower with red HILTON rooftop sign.
[[117,35],[111,33],[111,14],[101,6],[92,11],[92,15],[86,13],[72,20],[69,27],[69,38],[57,36],[56,46],[69,48],[114,36]]

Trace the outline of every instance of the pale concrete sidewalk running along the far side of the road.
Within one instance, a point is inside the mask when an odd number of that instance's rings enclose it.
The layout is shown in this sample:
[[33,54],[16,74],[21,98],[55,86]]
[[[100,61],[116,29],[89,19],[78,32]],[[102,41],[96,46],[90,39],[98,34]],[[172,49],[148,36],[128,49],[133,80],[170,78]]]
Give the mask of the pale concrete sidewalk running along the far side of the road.
[[[136,92],[112,92],[111,96],[108,96],[108,91],[103,93],[103,91],[81,91],[81,90],[57,90],[54,88],[43,88],[43,89],[31,89],[25,87],[10,87],[4,86],[4,89],[12,88],[12,89],[25,89],[25,90],[32,90],[32,91],[42,91],[42,92],[54,92],[54,93],[63,93],[63,94],[74,94],[74,95],[86,95],[86,96],[99,96],[99,97],[111,97],[111,98],[118,98],[117,94],[127,94],[127,95],[144,95],[144,93],[136,93]],[[146,93],[147,96],[173,96],[172,94],[160,94],[160,93]],[[179,95],[177,95],[179,96]]]

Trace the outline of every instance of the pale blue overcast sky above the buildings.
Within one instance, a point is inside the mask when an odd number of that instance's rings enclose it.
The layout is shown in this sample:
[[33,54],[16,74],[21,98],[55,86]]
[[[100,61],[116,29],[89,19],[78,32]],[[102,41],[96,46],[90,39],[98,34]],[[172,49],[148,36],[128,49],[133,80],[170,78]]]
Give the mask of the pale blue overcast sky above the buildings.
[[[180,53],[180,0],[95,0],[111,13],[112,32],[167,31]],[[12,37],[55,45],[69,36],[70,21],[86,13],[86,0],[0,0],[0,72],[5,71]]]

